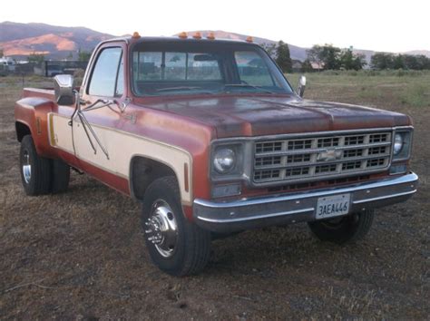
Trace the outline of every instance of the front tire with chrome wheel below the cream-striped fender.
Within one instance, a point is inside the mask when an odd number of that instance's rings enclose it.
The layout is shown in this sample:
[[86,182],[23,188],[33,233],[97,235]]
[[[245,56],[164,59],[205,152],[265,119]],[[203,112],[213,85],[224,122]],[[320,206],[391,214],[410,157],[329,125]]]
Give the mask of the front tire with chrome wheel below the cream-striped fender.
[[210,258],[210,232],[185,218],[174,177],[154,180],[145,192],[142,228],[152,262],[176,277],[198,274]]

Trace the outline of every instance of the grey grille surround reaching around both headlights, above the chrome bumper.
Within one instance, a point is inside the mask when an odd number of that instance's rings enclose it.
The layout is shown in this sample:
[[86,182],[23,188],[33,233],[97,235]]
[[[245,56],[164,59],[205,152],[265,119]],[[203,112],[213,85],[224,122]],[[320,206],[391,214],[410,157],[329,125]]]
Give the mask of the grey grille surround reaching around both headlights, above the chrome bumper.
[[[391,163],[399,161],[408,160],[410,157],[410,149],[412,142],[407,145],[407,150],[409,153],[405,157],[397,158],[392,155],[392,146],[394,143],[394,136],[396,132],[407,132],[412,141],[414,127],[413,126],[396,126],[396,127],[383,127],[383,128],[374,128],[374,129],[362,129],[362,130],[348,130],[348,131],[314,131],[314,132],[302,132],[302,133],[288,133],[288,134],[279,134],[279,135],[267,135],[267,136],[243,136],[243,137],[233,137],[233,138],[221,138],[217,140],[213,140],[210,142],[210,158],[209,158],[209,167],[210,167],[210,181],[212,183],[231,183],[242,181],[245,186],[253,189],[265,189],[265,188],[278,188],[279,186],[290,186],[291,184],[308,184],[312,182],[324,181],[324,180],[347,180],[351,177],[355,177],[357,175],[365,175],[368,176],[370,174],[382,174],[386,173],[388,175],[389,167]],[[378,133],[389,133],[390,140],[380,141],[380,138],[376,136]],[[353,135],[365,135],[373,133],[375,136],[372,137],[372,143],[369,144],[367,154],[365,155],[364,151],[361,151],[360,148],[357,148],[357,145],[352,144],[353,139],[347,139],[347,145],[345,145],[345,141],[337,141],[331,140],[334,137],[338,136],[353,136]],[[318,148],[318,142],[316,145],[316,149],[321,151],[330,150],[330,149],[338,149],[340,148],[343,151],[342,156],[345,158],[344,160],[340,160],[343,162],[342,167],[344,170],[340,172],[330,172],[329,168],[319,168],[318,175],[313,173],[313,175],[300,175],[299,168],[303,165],[303,163],[308,162],[308,164],[312,164],[315,158],[315,155],[309,153],[308,150],[304,149],[306,145],[308,145],[308,140],[312,141],[315,138],[323,139],[329,138],[329,140],[321,140],[320,147]],[[303,141],[304,142],[300,142]],[[273,142],[273,145],[268,147],[264,153],[259,152],[256,153],[256,144],[262,141],[270,141]],[[295,143],[289,144],[289,150],[283,150],[285,148],[285,141],[296,141]],[[370,142],[370,138],[369,138]],[[374,143],[375,142],[375,143]],[[284,144],[284,145],[283,145]],[[338,146],[340,144],[340,146]],[[305,146],[303,146],[305,145]],[[288,144],[287,144],[288,146]],[[384,147],[385,146],[385,147]],[[220,174],[213,168],[213,155],[215,152],[221,147],[235,148],[238,152],[238,164],[239,169],[235,172],[230,172],[227,174]],[[260,146],[263,148],[264,146]],[[361,146],[363,147],[363,146]],[[262,151],[262,150],[261,150]],[[304,152],[305,151],[305,152]],[[388,158],[379,157],[380,153],[386,152],[389,154]],[[286,157],[287,156],[287,157]],[[359,166],[362,163],[358,164],[358,161],[362,156],[366,156],[366,160],[369,160],[369,167],[366,170],[362,170]],[[256,159],[260,158],[259,166],[264,165],[264,168],[257,175],[264,177],[264,180],[259,179],[255,180],[256,174]],[[274,158],[273,158],[274,157]],[[378,158],[384,158],[386,166],[378,165]],[[373,160],[375,159],[375,160]],[[379,160],[380,162],[381,160]],[[328,162],[327,162],[328,163]],[[336,161],[335,161],[336,163]],[[318,165],[326,165],[325,161],[318,162]],[[339,165],[340,166],[340,165]],[[364,165],[363,165],[364,166]],[[270,176],[273,175],[272,172],[282,172],[282,170],[290,169],[288,171],[288,179],[287,180],[270,180]],[[295,169],[295,170],[293,170]],[[306,170],[302,170],[306,172]],[[283,173],[285,174],[285,173]],[[269,180],[268,180],[269,179]]]

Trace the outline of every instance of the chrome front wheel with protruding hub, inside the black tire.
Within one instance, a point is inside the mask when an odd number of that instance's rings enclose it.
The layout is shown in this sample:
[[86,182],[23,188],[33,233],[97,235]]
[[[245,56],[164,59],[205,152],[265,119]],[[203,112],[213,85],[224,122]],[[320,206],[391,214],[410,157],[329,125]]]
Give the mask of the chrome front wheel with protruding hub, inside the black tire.
[[145,234],[164,258],[170,258],[178,240],[178,224],[169,204],[157,199],[151,206],[149,219],[145,222]]

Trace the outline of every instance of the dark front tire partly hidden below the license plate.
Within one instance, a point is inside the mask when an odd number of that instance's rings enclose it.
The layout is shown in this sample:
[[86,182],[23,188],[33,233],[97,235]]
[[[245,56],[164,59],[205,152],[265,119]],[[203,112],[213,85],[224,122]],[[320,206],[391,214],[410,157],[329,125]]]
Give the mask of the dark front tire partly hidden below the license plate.
[[372,226],[374,209],[342,218],[308,222],[310,230],[322,241],[337,244],[354,243],[366,236]]

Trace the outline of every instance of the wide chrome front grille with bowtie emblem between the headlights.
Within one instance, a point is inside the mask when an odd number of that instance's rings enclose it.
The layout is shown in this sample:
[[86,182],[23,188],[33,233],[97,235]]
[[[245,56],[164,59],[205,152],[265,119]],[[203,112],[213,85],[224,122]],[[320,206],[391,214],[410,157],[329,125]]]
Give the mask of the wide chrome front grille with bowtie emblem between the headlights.
[[388,168],[391,131],[256,141],[254,183],[336,178]]

